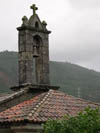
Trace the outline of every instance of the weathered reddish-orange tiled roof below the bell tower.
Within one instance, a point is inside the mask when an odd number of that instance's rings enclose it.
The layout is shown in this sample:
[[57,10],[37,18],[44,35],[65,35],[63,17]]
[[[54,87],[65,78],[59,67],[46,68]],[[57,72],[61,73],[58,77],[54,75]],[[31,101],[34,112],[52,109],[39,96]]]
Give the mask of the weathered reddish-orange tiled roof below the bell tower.
[[66,114],[76,115],[87,106],[99,105],[56,90],[49,90],[13,106],[0,113],[0,122],[45,122],[48,119],[62,118]]

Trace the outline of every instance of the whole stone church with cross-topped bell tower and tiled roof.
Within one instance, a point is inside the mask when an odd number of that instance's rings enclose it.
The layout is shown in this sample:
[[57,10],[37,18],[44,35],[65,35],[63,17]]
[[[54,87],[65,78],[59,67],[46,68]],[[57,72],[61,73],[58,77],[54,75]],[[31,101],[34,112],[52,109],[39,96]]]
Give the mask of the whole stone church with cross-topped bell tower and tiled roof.
[[[75,116],[99,105],[75,98],[52,86],[49,78],[49,34],[35,4],[32,16],[22,18],[18,30],[19,85],[0,101],[0,133],[41,133],[48,119]],[[67,79],[66,79],[67,80]],[[6,88],[5,88],[6,89]]]

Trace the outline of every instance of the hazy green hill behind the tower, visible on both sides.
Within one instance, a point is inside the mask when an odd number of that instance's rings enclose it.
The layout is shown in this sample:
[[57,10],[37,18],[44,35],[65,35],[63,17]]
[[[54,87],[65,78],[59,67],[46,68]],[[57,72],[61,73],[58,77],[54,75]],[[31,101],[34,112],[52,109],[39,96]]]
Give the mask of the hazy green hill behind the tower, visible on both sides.
[[[51,84],[61,91],[100,102],[100,73],[67,62],[50,62]],[[17,52],[0,52],[0,93],[18,83]]]

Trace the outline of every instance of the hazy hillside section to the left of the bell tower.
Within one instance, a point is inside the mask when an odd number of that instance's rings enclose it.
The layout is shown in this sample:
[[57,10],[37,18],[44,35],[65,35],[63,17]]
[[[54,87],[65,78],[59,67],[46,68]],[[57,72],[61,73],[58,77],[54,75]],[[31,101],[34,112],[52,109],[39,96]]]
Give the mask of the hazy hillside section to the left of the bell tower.
[[10,87],[18,83],[17,52],[0,52],[0,93],[10,92]]

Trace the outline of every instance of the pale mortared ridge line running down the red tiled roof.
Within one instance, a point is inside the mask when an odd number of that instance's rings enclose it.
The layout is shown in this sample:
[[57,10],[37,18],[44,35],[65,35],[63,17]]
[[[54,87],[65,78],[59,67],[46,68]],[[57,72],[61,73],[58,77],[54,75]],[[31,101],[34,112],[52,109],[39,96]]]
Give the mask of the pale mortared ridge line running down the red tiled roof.
[[29,113],[28,118],[29,117],[30,118],[33,118],[37,114],[37,112],[39,111],[39,109],[44,105],[45,100],[47,100],[47,98],[50,95],[50,92],[51,91],[52,90],[49,90],[48,93],[44,96],[44,98],[38,104],[36,104],[36,106],[34,107],[34,109]]

